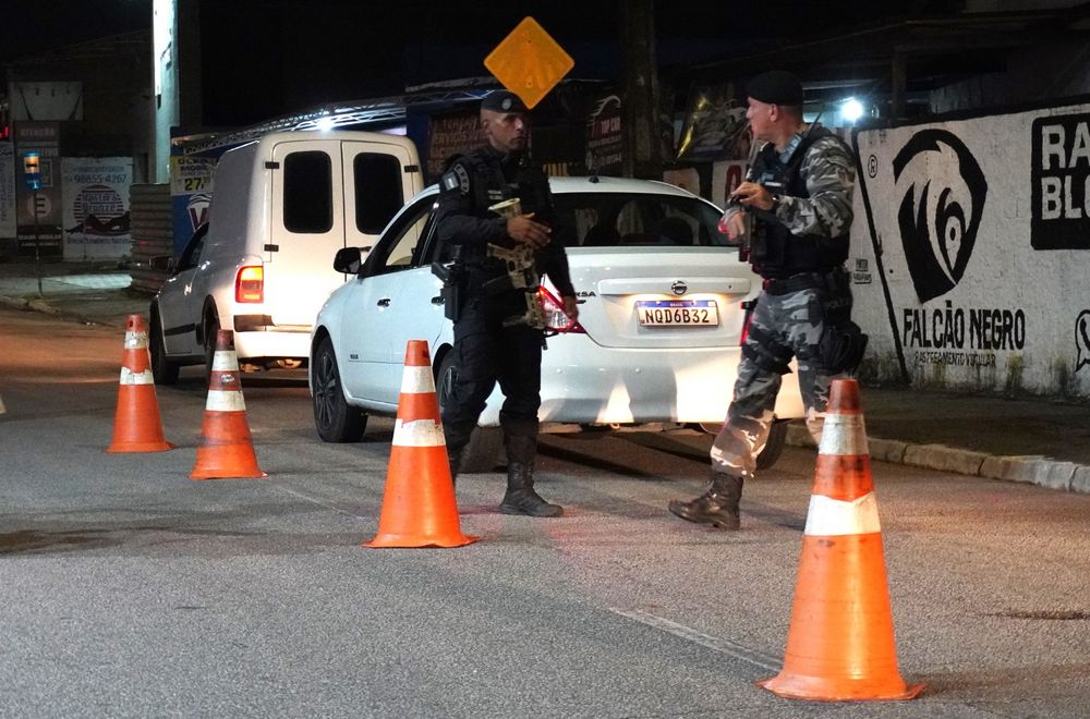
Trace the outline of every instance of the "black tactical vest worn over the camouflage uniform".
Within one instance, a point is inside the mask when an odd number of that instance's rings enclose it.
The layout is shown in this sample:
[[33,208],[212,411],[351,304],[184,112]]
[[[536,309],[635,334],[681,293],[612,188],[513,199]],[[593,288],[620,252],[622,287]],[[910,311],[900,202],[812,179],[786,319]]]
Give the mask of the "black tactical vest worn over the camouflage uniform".
[[[824,127],[814,127],[799,143],[785,164],[772,143],[766,143],[753,161],[751,175],[772,194],[810,197],[800,169],[813,144],[836,137]],[[762,215],[764,217],[762,217]],[[819,234],[794,235],[768,212],[754,212],[750,261],[765,279],[784,279],[800,272],[826,272],[848,258],[848,233],[836,237]]]

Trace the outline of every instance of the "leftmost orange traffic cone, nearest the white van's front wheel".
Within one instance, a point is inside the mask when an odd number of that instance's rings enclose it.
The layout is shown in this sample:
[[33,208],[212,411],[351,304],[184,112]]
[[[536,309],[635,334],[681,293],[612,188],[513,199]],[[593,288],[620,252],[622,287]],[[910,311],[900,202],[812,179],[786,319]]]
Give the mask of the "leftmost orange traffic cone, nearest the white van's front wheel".
[[155,398],[152,361],[147,354],[147,324],[143,315],[129,315],[125,349],[121,354],[118,411],[113,441],[107,452],[162,452],[174,446],[162,436],[159,402]]

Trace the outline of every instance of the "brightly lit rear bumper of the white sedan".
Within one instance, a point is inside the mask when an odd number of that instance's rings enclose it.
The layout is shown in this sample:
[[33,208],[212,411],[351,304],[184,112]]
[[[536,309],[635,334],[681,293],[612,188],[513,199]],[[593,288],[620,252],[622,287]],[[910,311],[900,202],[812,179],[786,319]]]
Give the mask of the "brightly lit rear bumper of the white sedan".
[[[585,336],[550,338],[542,358],[542,422],[647,424],[723,422],[738,378],[739,348],[622,350]],[[480,424],[499,424],[497,387]],[[798,376],[784,376],[780,418],[803,416]]]

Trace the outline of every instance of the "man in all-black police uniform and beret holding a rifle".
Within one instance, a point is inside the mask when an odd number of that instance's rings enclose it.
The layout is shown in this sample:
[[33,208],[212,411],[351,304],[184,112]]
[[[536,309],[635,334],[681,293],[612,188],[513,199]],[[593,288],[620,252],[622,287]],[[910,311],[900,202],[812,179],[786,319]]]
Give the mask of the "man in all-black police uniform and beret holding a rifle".
[[[534,491],[544,345],[536,291],[547,273],[572,319],[579,316],[576,291],[548,180],[526,153],[525,106],[506,90],[489,93],[481,103],[481,127],[488,144],[448,163],[436,226],[440,241],[458,257],[462,282],[452,350],[458,374],[443,407],[450,474],[457,476],[465,444],[498,380],[508,460],[499,511],[559,516],[562,508]],[[519,198],[520,209],[509,217],[495,208],[513,198]]]

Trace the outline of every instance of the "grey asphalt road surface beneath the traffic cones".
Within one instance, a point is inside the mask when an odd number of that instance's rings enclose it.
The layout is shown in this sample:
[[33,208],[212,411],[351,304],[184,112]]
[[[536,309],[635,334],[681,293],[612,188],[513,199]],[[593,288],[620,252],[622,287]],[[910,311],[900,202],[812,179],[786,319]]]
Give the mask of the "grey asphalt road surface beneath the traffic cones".
[[247,376],[267,479],[192,482],[205,387],[157,388],[177,449],[106,454],[122,333],[0,309],[0,716],[1086,717],[1090,497],[874,464],[913,702],[798,703],[783,657],[814,454],[743,529],[665,511],[708,438],[554,436],[559,520],[459,479],[458,549],[360,547],[392,423],[323,444],[305,383]]

